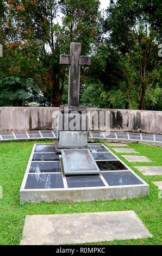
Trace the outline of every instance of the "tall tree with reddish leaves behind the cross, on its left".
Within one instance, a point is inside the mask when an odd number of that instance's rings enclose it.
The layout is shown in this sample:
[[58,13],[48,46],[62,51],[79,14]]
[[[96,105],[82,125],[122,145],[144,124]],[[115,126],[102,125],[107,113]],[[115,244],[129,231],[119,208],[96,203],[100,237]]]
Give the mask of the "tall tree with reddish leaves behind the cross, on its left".
[[[59,64],[61,53],[69,53],[70,42],[82,43],[82,53],[90,51],[97,31],[98,0],[15,0],[8,1],[10,24],[17,28],[15,39],[19,68],[17,75],[33,77],[52,106],[60,106],[67,68]],[[62,25],[55,22],[58,10]],[[11,40],[11,46],[15,40]]]

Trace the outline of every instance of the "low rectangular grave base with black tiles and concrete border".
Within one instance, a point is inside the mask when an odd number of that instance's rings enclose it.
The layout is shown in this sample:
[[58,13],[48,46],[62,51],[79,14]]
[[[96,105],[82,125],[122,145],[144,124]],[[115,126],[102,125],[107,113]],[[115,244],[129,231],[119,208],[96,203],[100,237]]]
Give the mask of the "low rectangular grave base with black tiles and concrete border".
[[[98,151],[97,154],[111,154],[103,144],[90,144]],[[46,155],[55,155],[55,153],[46,153],[52,150],[52,144],[34,144],[32,154],[30,156],[26,173],[22,181],[20,189],[20,202],[40,203],[40,202],[90,202],[93,200],[112,200],[126,199],[147,195],[149,193],[148,184],[136,175],[126,164],[122,163],[116,157],[116,160],[94,160],[97,164],[100,174],[95,175],[64,175],[63,162],[58,160],[45,159]],[[43,149],[43,150],[42,150]],[[35,153],[40,150],[42,153]],[[87,150],[87,149],[82,149]],[[73,150],[76,152],[76,149]],[[80,151],[80,150],[79,150]],[[33,155],[39,154],[40,160],[33,161]],[[90,153],[91,157],[92,154]],[[67,157],[68,159],[68,157]],[[72,167],[75,167],[75,157],[71,159]],[[79,158],[79,161],[81,159]],[[83,160],[81,164],[76,161],[78,167],[84,167],[86,161],[90,167],[94,163],[88,159]],[[106,174],[106,172],[111,172]],[[126,173],[125,173],[126,172]],[[130,177],[130,172],[132,173]],[[86,173],[87,174],[87,173]],[[115,175],[116,174],[116,175]],[[112,176],[113,175],[113,176]],[[104,178],[105,176],[105,178]],[[135,178],[138,178],[136,179]],[[114,181],[115,177],[115,181]],[[141,183],[141,182],[142,183]],[[116,182],[116,183],[115,183]],[[108,183],[110,185],[108,185]]]

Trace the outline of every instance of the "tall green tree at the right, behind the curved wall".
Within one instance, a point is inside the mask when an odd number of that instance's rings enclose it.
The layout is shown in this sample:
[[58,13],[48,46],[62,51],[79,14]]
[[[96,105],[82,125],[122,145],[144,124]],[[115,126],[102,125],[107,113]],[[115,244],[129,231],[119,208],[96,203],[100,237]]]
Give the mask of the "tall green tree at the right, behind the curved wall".
[[134,90],[141,109],[145,109],[147,92],[157,86],[161,65],[157,50],[159,34],[153,29],[146,4],[145,0],[111,1],[105,21],[109,43],[120,52],[124,78]]

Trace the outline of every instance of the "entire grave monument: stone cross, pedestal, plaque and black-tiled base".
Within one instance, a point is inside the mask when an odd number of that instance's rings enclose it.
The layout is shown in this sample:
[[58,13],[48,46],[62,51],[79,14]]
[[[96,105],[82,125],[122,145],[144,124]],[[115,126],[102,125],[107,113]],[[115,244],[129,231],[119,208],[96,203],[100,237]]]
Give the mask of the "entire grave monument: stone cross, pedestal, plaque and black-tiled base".
[[58,142],[34,144],[20,189],[20,202],[88,202],[147,195],[148,184],[103,144],[88,145],[87,109],[79,106],[81,46],[71,43],[68,104],[58,116]]

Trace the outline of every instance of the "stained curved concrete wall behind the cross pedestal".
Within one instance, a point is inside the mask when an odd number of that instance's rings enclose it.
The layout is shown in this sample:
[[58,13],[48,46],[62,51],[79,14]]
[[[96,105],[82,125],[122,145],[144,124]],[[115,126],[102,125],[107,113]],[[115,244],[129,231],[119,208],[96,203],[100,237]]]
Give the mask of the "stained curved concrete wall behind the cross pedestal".
[[[161,111],[137,111],[126,109],[95,109],[90,112],[110,112],[111,131],[146,132],[162,134]],[[27,131],[52,129],[52,107],[0,107],[0,131]],[[92,130],[94,129],[92,121]],[[53,126],[55,129],[55,125]]]

